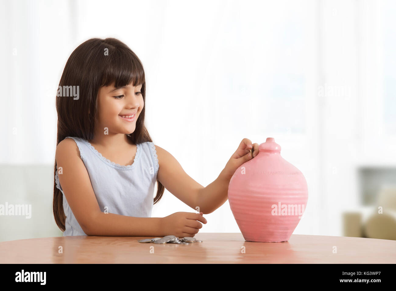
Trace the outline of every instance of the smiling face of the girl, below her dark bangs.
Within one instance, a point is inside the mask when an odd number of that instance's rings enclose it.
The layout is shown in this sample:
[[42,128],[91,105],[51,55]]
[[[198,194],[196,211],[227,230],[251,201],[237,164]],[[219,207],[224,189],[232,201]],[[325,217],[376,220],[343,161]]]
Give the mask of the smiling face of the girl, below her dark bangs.
[[98,114],[99,128],[103,132],[105,127],[109,133],[133,133],[136,120],[143,110],[144,102],[141,88],[143,85],[133,87],[132,84],[121,88],[110,86],[99,88]]

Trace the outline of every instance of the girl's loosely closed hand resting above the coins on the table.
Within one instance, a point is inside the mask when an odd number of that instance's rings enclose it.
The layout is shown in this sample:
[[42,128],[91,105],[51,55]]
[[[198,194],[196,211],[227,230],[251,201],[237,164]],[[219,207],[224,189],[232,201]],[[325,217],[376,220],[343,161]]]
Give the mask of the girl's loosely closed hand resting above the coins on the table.
[[202,223],[199,221],[205,224],[208,222],[202,212],[176,212],[162,219],[161,231],[165,236],[194,237],[202,228]]

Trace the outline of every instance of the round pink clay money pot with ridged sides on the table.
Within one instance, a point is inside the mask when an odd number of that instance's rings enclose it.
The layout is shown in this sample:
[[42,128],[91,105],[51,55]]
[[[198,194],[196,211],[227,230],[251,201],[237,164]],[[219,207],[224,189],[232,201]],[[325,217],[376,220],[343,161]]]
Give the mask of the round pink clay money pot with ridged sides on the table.
[[280,149],[268,137],[230,179],[228,202],[247,241],[286,242],[307,206],[307,181]]

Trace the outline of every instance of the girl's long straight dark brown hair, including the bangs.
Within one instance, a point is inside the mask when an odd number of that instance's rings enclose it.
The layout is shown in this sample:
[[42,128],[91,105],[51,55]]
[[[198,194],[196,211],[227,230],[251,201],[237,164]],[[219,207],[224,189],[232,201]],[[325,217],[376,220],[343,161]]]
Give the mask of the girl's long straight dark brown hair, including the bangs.
[[[59,86],[79,86],[79,97],[56,97],[58,114],[58,145],[68,136],[91,140],[97,121],[97,95],[99,88],[115,83],[115,87],[142,84],[141,93],[146,105],[146,81],[143,65],[137,55],[116,38],[91,38],[80,44],[70,55]],[[135,131],[127,137],[135,144],[152,141],[145,127],[145,108],[136,121]],[[57,170],[56,160],[54,176]],[[65,231],[63,196],[53,187],[53,215],[57,226]],[[164,186],[157,180],[154,204],[160,201]]]

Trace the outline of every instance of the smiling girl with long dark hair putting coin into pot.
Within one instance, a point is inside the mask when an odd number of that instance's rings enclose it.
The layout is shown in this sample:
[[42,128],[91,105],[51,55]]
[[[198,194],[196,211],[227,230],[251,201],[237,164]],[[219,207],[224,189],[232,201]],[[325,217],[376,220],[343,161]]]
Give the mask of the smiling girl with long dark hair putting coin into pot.
[[[152,142],[145,92],[141,61],[115,38],[89,39],[70,55],[56,97],[53,214],[63,236],[192,237],[227,200],[236,169],[258,154],[243,139],[217,179],[200,185]],[[164,187],[199,213],[151,217]]]

